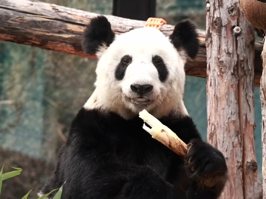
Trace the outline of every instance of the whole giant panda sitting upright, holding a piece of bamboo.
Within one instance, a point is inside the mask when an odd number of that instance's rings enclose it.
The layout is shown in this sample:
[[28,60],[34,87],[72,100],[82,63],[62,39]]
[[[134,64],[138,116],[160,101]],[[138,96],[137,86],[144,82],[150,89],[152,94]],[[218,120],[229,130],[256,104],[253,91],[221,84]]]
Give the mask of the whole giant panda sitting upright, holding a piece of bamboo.
[[[106,17],[92,19],[82,46],[98,58],[95,90],[39,195],[64,184],[62,199],[218,198],[225,157],[202,140],[183,101],[184,65],[198,53],[197,37],[189,20],[167,37],[152,27],[115,35]],[[185,158],[142,129],[143,109],[188,144]]]

